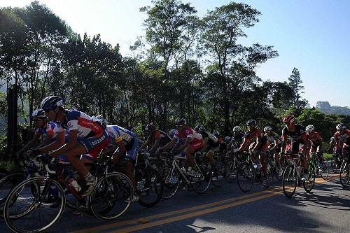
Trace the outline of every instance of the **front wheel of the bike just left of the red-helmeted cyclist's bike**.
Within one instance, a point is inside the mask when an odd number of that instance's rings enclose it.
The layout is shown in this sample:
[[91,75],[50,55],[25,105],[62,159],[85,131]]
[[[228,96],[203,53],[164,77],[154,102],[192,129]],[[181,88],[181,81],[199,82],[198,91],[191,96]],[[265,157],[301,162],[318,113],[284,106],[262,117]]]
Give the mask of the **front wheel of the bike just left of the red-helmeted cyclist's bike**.
[[255,171],[253,164],[242,162],[237,169],[237,184],[242,192],[248,192],[253,188]]

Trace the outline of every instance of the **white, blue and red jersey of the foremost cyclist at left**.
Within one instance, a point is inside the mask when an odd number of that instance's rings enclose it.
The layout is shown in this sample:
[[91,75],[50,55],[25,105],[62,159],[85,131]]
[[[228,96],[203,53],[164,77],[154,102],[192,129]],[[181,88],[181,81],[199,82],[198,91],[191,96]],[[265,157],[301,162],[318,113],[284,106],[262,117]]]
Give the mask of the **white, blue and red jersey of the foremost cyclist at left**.
[[102,136],[104,129],[97,122],[94,122],[90,115],[76,110],[64,110],[64,121],[57,122],[58,131],[77,129],[78,136],[86,139]]

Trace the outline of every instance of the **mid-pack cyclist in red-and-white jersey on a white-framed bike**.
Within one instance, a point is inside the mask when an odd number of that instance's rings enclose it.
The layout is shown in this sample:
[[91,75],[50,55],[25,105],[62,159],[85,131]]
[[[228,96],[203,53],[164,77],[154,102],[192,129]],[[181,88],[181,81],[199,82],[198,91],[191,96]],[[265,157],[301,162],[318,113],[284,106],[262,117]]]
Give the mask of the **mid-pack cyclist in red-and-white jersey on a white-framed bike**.
[[179,148],[176,148],[177,151],[185,153],[186,158],[188,160],[188,174],[195,175],[195,171],[193,171],[193,167],[195,167],[195,159],[193,155],[200,150],[204,146],[204,140],[202,135],[197,134],[195,130],[188,127],[186,119],[179,119],[175,123],[176,125],[176,134],[174,135],[172,141],[167,143],[167,145],[160,148],[160,152],[167,150],[168,148],[173,148],[174,144],[178,141],[178,139],[184,139],[185,143]]

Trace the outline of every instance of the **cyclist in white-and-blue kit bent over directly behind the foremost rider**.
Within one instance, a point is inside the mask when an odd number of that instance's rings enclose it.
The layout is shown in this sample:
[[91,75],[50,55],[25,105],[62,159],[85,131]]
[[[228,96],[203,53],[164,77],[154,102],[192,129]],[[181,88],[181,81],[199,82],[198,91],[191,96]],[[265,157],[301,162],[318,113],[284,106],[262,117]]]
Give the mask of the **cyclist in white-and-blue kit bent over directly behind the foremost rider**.
[[[100,117],[102,121],[104,119]],[[106,121],[105,121],[106,122]],[[133,188],[135,190],[132,202],[139,200],[139,196],[136,193],[136,181],[134,173],[132,172],[132,166],[137,159],[137,150],[139,148],[139,139],[130,130],[124,129],[118,125],[108,125],[106,122],[106,131],[109,135],[110,146],[104,151],[106,155],[112,155],[114,164],[118,167],[123,167],[125,175],[130,178]]]

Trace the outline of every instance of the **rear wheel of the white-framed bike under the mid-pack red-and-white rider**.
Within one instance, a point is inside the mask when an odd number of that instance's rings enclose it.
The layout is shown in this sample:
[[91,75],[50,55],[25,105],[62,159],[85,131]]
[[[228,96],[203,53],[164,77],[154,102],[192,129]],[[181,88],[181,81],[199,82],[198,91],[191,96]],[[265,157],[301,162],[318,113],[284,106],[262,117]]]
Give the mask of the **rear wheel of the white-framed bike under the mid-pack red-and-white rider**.
[[213,173],[211,168],[206,164],[200,164],[198,167],[200,169],[200,173],[198,173],[198,176],[191,176],[190,182],[193,190],[199,194],[202,194],[204,192],[207,192]]

